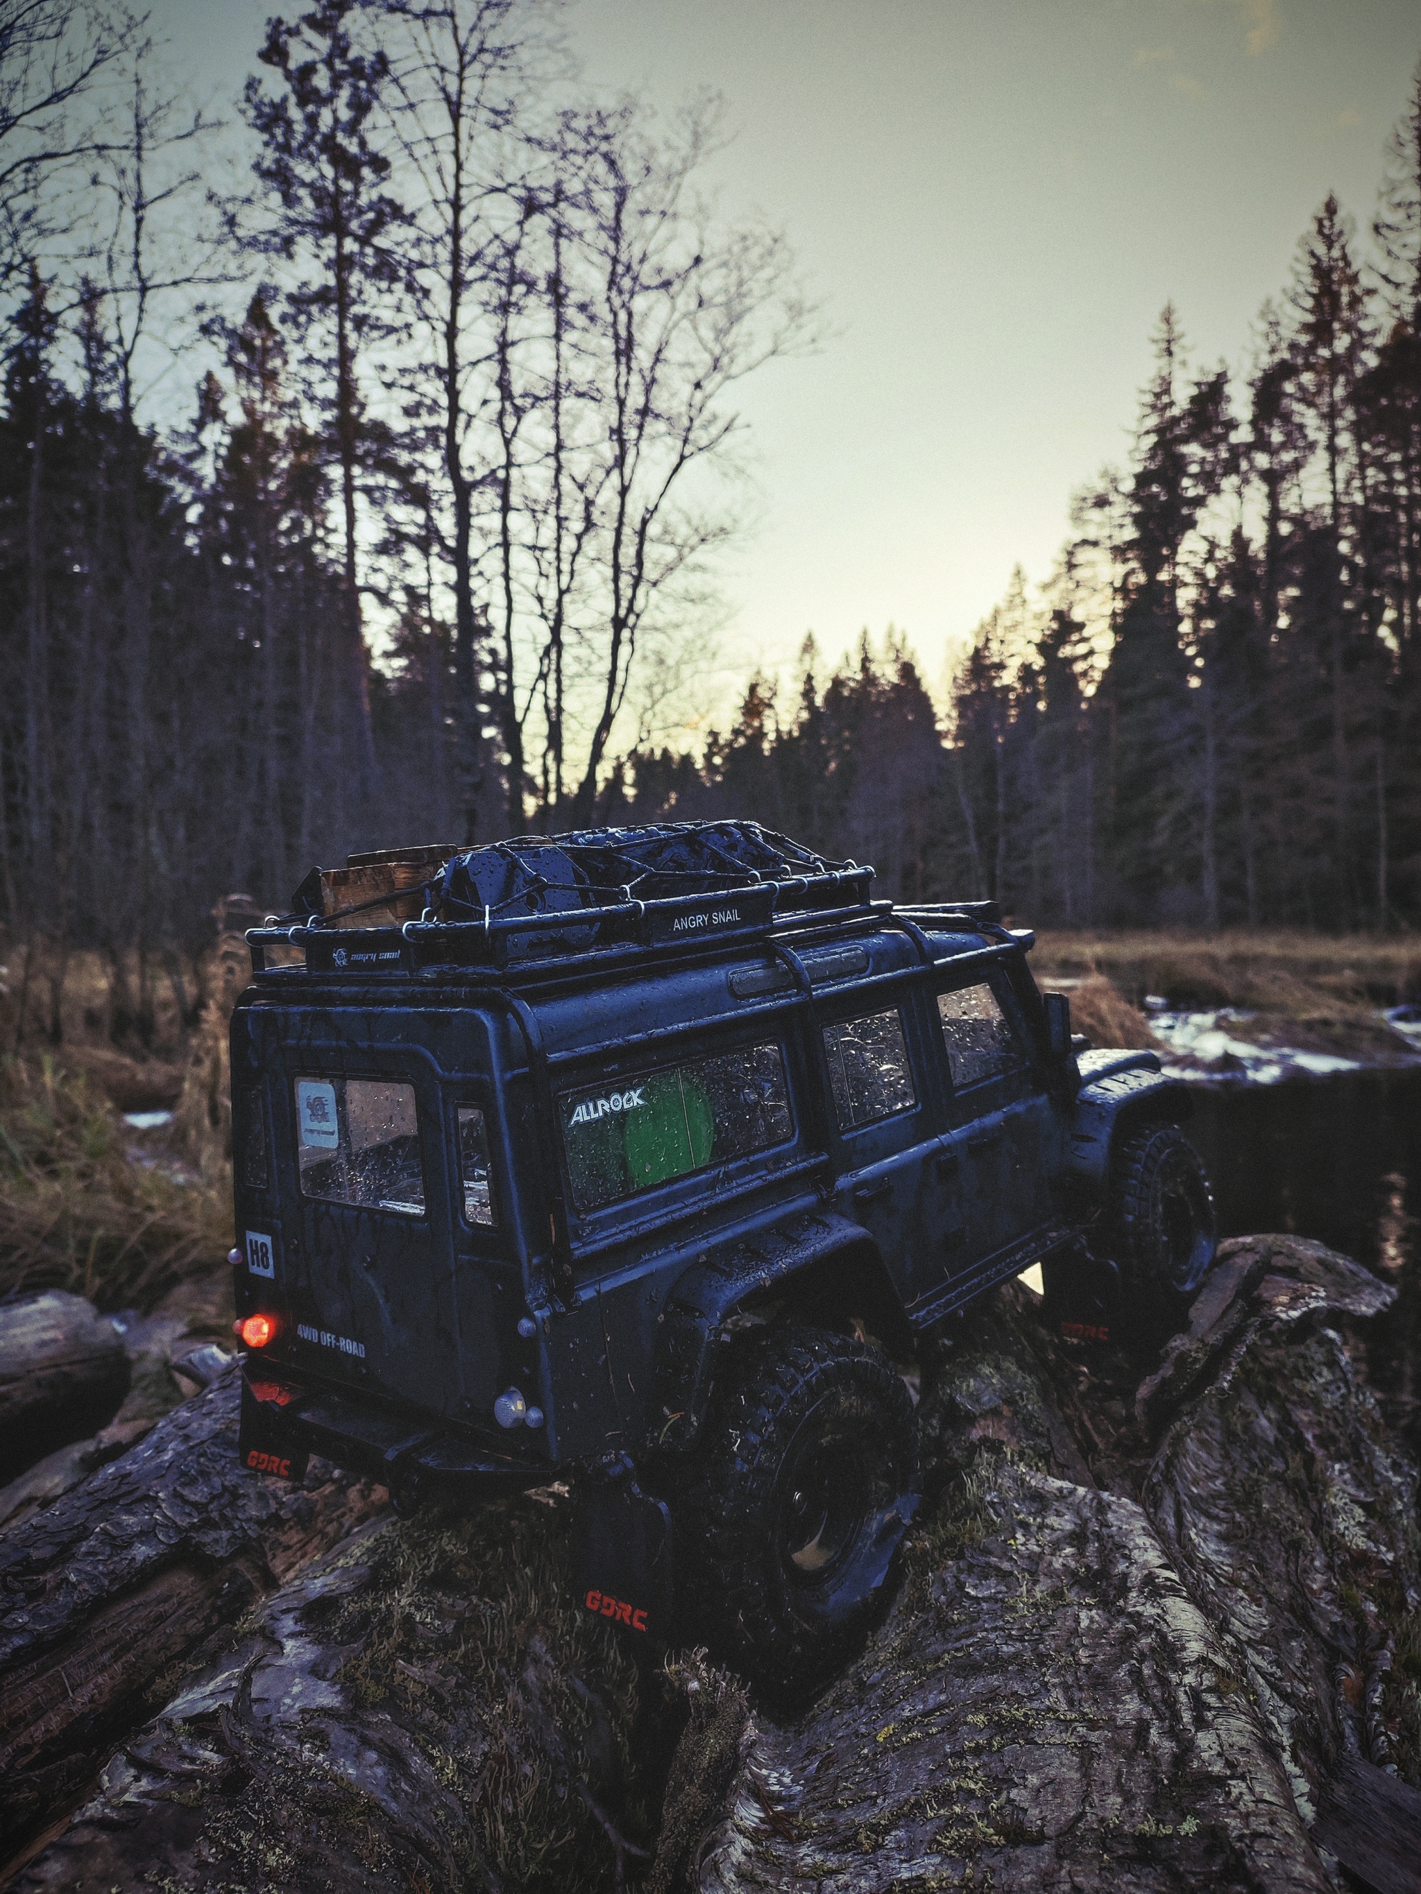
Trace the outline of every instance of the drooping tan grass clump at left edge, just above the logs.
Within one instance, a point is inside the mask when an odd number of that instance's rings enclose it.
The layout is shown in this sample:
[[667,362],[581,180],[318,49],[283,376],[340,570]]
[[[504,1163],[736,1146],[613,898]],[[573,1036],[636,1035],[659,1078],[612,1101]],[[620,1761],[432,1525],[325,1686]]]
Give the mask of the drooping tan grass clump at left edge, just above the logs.
[[133,1135],[81,1072],[0,1063],[0,1295],[74,1290],[152,1309],[210,1275],[231,1242],[231,1176],[182,1182],[131,1155]]

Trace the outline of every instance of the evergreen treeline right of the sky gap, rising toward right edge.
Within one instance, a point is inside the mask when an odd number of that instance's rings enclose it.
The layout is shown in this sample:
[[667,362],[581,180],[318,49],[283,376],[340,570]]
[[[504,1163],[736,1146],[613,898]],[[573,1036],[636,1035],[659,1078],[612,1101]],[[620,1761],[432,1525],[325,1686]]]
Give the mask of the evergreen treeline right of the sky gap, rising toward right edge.
[[1154,337],[1133,458],[1072,500],[945,689],[860,640],[782,703],[756,678],[703,761],[635,756],[640,814],[752,809],[1044,926],[1421,920],[1421,66],[1370,244],[1328,197],[1250,369]]

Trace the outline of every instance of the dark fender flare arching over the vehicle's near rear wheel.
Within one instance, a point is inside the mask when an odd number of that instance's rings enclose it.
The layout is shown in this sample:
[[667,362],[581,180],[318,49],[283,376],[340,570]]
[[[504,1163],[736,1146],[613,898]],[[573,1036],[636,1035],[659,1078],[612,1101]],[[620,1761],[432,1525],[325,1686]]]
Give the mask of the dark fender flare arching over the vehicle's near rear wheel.
[[693,1445],[710,1400],[716,1352],[733,1333],[728,1324],[775,1292],[792,1294],[803,1309],[826,1318],[858,1314],[890,1347],[909,1345],[902,1297],[864,1225],[834,1210],[788,1218],[703,1252],[676,1277],[661,1311],[648,1447]]

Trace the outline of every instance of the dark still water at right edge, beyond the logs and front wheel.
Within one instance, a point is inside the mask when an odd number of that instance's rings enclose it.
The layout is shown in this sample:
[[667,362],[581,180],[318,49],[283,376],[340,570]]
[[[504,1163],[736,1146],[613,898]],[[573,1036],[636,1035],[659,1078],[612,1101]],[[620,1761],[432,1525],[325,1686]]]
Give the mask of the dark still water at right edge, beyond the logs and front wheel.
[[1396,1286],[1366,1337],[1368,1373],[1421,1453],[1421,1070],[1201,1085],[1186,1129],[1213,1178],[1220,1235],[1315,1237]]

